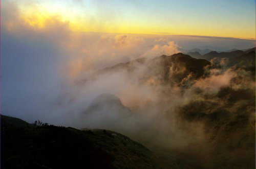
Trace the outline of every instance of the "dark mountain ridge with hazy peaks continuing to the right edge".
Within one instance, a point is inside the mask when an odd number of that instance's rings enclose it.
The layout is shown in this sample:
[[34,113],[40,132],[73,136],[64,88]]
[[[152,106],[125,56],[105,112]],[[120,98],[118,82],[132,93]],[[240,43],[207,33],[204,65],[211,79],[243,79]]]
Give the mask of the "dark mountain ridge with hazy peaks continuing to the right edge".
[[[193,75],[191,79],[198,79],[204,74],[204,67],[210,65],[211,59],[227,58],[227,66],[238,65],[242,67],[255,66],[255,47],[246,51],[237,50],[232,52],[210,51],[207,54],[201,55],[197,50],[196,52],[188,52],[186,54],[178,53],[172,56],[162,55],[154,59],[141,58],[127,63],[119,63],[112,67],[107,67],[98,70],[94,75],[104,75],[112,72],[127,70],[129,73],[136,71],[139,65],[144,65],[146,70],[141,77],[140,82],[146,83],[150,78],[154,77],[157,83],[169,85],[185,85],[182,81],[188,75]],[[200,50],[202,52],[202,50]],[[206,52],[207,50],[205,50]],[[209,51],[209,50],[208,50]],[[182,70],[180,74],[179,70]],[[170,76],[171,75],[171,76]]]

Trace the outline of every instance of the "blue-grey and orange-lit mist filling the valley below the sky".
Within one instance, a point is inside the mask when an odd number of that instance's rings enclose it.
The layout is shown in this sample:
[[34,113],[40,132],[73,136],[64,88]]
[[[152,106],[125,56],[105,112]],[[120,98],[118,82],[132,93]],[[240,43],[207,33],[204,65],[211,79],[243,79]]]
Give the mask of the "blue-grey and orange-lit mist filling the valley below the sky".
[[[212,61],[202,68],[202,75],[195,75],[174,63],[166,75],[160,57],[193,45],[247,49],[255,45],[252,40],[74,32],[70,22],[58,15],[43,18],[41,27],[32,24],[36,18],[24,19],[8,1],[1,15],[1,113],[29,123],[40,119],[77,129],[108,129],[147,145],[168,149],[201,145],[206,151],[210,148],[205,142],[211,137],[205,130],[208,120],[184,120],[184,112],[207,102],[196,110],[209,115],[224,107],[222,115],[233,116],[244,103],[228,105],[229,96],[221,98],[220,91],[255,93],[255,83],[243,69],[227,68],[226,63],[216,68]],[[98,103],[95,98],[100,94],[117,98],[114,103],[108,97]],[[251,118],[252,109],[248,109]]]

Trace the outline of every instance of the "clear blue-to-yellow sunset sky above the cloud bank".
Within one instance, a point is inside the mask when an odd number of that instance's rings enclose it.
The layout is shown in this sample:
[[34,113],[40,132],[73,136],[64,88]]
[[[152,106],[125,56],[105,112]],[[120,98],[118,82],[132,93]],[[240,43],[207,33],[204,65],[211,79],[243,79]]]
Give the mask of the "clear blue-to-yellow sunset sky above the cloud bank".
[[58,16],[70,22],[72,31],[255,38],[253,0],[8,2],[17,6],[24,21],[39,28]]

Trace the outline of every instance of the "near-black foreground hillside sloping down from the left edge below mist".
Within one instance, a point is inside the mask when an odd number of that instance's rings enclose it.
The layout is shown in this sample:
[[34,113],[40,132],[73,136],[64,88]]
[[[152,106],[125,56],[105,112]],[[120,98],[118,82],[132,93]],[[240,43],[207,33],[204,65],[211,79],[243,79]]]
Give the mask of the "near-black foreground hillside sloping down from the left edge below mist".
[[[23,120],[1,115],[6,121]],[[11,122],[10,122],[11,123]],[[10,124],[8,123],[8,124]],[[142,144],[106,130],[1,126],[1,168],[160,168]]]

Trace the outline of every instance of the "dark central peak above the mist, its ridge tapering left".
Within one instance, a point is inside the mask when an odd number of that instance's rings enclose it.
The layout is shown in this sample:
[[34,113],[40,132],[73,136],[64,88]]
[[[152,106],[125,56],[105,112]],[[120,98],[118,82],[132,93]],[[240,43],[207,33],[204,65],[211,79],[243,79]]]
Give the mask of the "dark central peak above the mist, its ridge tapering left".
[[[139,59],[132,62],[120,63],[112,67],[97,71],[93,78],[99,75],[126,70],[129,73],[137,71],[140,65],[144,66],[144,73],[140,82],[147,83],[154,77],[154,83],[169,85],[184,85],[183,79],[191,75],[191,79],[197,79],[203,76],[204,67],[210,65],[210,62],[204,59],[195,59],[182,53],[172,56],[162,55],[154,59]],[[140,69],[138,71],[141,71]]]

